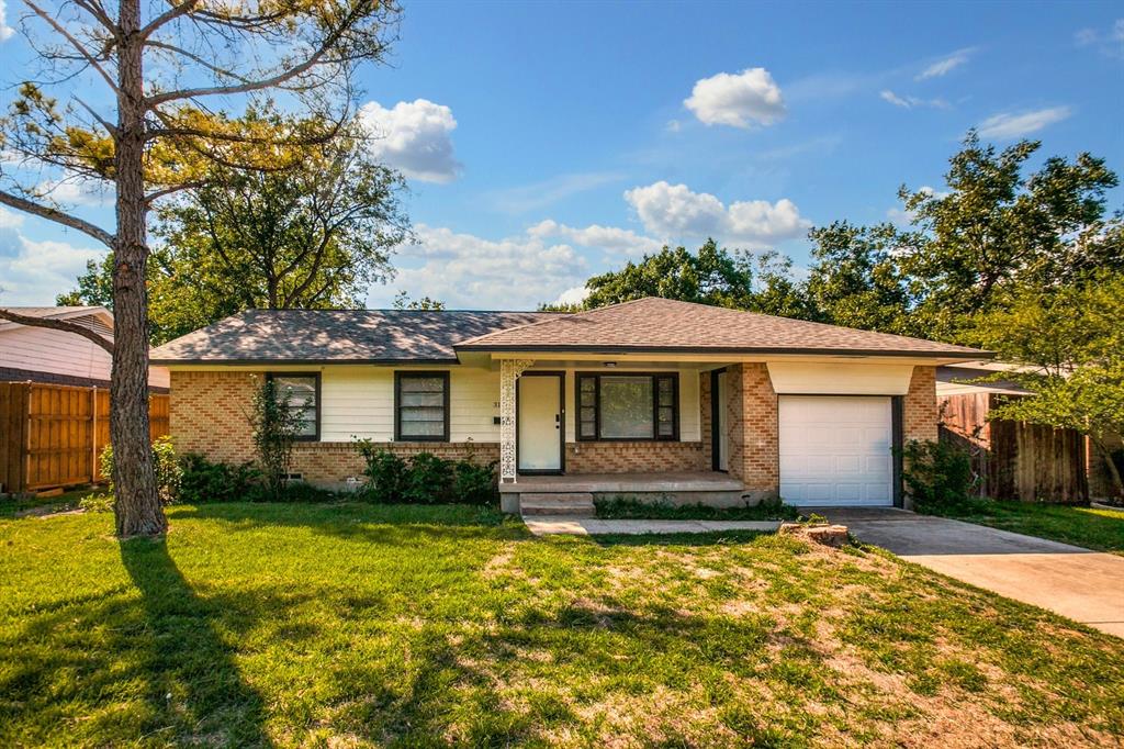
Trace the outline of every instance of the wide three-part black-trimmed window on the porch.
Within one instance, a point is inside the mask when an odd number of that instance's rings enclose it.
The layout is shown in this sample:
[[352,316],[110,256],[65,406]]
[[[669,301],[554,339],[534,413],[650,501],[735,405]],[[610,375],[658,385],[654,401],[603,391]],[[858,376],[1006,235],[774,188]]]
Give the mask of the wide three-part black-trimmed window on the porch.
[[579,440],[679,439],[677,372],[579,372],[577,387]]

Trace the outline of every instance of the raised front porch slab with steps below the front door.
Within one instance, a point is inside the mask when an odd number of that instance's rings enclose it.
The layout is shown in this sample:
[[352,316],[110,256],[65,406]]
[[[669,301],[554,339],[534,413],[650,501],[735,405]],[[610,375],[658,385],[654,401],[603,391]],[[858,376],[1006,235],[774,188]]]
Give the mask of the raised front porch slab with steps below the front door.
[[499,491],[504,512],[591,517],[595,499],[601,498],[734,507],[744,502],[745,486],[720,471],[658,471],[520,475],[515,482],[501,484]]

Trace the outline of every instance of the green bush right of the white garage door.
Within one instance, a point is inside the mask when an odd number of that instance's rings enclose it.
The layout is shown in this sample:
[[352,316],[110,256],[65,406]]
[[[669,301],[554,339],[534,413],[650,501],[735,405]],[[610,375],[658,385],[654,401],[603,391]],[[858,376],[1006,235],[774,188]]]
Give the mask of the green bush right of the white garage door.
[[901,457],[901,479],[917,509],[933,512],[970,502],[972,462],[962,448],[910,440]]

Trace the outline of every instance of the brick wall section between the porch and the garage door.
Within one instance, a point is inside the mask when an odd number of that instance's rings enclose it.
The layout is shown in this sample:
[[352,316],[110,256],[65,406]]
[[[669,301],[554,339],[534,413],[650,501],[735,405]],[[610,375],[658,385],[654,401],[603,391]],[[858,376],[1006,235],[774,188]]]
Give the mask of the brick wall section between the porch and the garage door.
[[751,493],[774,495],[780,490],[780,436],[769,370],[763,363],[746,363],[726,372],[729,473]]

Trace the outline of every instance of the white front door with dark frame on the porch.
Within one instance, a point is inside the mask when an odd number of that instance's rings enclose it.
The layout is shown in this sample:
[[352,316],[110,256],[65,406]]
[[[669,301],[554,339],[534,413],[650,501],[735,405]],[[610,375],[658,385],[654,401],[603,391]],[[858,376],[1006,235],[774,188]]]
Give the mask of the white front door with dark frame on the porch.
[[519,471],[562,471],[564,407],[560,372],[524,372],[517,380],[517,450]]

